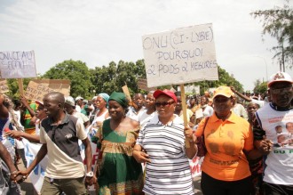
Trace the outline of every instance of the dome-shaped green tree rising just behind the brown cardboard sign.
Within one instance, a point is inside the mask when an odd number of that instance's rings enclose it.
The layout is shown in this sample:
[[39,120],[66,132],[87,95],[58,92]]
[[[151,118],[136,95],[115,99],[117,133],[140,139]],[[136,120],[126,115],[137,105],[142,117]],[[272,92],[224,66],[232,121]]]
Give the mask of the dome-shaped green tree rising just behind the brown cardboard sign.
[[43,78],[69,79],[71,96],[92,97],[91,72],[83,61],[63,61],[49,69]]

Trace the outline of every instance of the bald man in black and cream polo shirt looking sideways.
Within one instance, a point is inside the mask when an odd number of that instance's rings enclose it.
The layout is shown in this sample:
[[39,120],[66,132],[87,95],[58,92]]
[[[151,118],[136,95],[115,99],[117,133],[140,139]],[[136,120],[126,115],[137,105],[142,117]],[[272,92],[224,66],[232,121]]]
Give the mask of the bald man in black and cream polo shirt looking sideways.
[[[95,183],[96,178],[91,172],[91,144],[85,134],[83,122],[64,111],[65,98],[62,93],[48,93],[43,102],[48,116],[40,127],[40,142],[43,145],[35,160],[21,174],[29,175],[48,154],[49,161],[41,193],[51,195],[63,191],[66,194],[87,194],[85,185]],[[78,140],[82,140],[85,147],[86,174]]]

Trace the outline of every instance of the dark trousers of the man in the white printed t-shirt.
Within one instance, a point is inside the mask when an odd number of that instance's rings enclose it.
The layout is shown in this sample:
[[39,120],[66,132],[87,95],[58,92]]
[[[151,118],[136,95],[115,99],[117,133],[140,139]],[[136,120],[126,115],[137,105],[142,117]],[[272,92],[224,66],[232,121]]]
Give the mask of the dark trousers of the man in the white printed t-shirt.
[[293,185],[280,185],[273,183],[263,184],[265,195],[292,195]]

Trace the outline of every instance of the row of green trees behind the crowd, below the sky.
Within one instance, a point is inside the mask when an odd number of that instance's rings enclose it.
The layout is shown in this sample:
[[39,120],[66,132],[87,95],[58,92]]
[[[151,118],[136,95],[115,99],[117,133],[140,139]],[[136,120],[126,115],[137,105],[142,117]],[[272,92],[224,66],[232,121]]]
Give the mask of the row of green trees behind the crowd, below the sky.
[[[83,98],[91,99],[97,93],[112,93],[114,91],[122,92],[122,86],[127,85],[131,95],[134,93],[147,93],[138,88],[138,78],[146,78],[146,69],[144,60],[133,62],[119,61],[116,64],[111,61],[108,66],[95,67],[88,69],[83,61],[63,61],[49,69],[41,78],[49,79],[69,79],[71,81],[70,95],[78,95]],[[201,81],[188,85],[200,85],[201,94],[210,87],[219,85],[233,85],[235,89],[242,92],[242,85],[229,75],[225,69],[218,67],[218,81]],[[24,78],[23,85],[26,89],[31,78]],[[17,79],[8,79],[10,93],[14,98],[19,98],[19,86]],[[187,85],[187,84],[186,84]],[[178,89],[178,85],[159,86],[159,89]]]

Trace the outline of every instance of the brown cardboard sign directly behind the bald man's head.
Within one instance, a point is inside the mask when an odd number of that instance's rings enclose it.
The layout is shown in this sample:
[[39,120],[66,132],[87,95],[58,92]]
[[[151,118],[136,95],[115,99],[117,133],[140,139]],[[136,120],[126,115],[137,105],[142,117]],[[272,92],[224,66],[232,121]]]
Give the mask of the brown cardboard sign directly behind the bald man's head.
[[24,96],[28,100],[42,101],[44,95],[51,92],[59,92],[68,96],[70,94],[70,80],[33,79],[28,83]]

